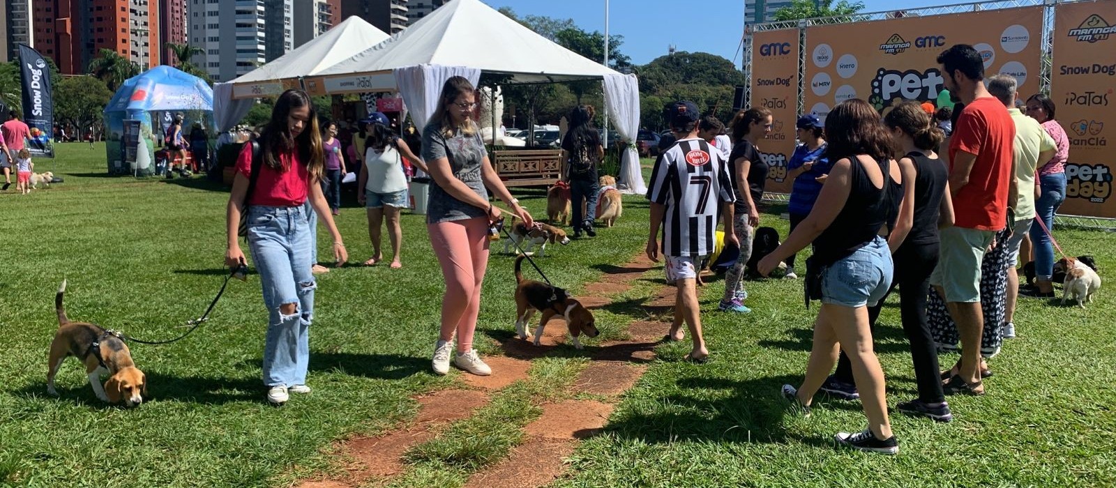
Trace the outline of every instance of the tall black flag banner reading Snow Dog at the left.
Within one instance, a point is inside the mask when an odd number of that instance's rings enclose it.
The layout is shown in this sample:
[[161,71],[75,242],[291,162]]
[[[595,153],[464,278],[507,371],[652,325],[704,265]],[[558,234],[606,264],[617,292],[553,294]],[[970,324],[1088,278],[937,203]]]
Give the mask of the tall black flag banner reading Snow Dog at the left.
[[50,69],[35,49],[19,45],[19,69],[23,87],[23,121],[31,129],[27,148],[31,154],[55,157],[50,136],[55,126],[55,101],[50,97]]

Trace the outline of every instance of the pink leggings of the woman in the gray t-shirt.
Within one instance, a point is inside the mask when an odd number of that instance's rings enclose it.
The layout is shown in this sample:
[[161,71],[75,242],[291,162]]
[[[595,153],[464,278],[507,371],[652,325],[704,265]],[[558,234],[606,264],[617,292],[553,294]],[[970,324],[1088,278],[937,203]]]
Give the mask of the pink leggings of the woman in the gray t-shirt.
[[481,308],[481,283],[488,269],[488,227],[485,217],[426,224],[430,243],[445,279],[439,339],[452,341],[456,332],[458,352],[473,348],[473,332]]

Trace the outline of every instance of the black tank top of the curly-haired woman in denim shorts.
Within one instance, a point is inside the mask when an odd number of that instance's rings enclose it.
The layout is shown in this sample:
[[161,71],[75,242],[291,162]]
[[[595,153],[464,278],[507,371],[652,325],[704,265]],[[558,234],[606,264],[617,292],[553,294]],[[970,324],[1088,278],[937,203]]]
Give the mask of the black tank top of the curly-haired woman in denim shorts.
[[887,159],[876,160],[884,177],[883,188],[876,188],[857,158],[850,158],[848,199],[829,227],[814,240],[814,254],[821,265],[833,264],[868,245],[879,230],[894,223],[899,213],[903,185],[891,176]]

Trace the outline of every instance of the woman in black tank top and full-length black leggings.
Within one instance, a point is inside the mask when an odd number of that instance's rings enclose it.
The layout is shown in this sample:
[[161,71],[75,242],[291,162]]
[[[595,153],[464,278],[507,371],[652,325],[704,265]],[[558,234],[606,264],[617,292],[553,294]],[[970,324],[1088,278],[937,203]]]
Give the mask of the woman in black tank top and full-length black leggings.
[[[953,224],[953,205],[949,193],[949,172],[934,154],[944,139],[944,133],[932,125],[931,118],[917,104],[899,105],[884,117],[884,125],[905,154],[899,159],[904,182],[899,217],[887,238],[895,262],[892,290],[899,286],[899,310],[903,331],[911,343],[918,398],[899,402],[897,410],[947,422],[953,416],[939,378],[936,343],[926,318],[930,274],[937,265],[937,228]],[[888,290],[891,294],[892,290]],[[883,301],[868,309],[868,320],[875,325]],[[853,367],[841,351],[837,371],[821,387],[822,391],[838,398],[853,398],[857,393]]]

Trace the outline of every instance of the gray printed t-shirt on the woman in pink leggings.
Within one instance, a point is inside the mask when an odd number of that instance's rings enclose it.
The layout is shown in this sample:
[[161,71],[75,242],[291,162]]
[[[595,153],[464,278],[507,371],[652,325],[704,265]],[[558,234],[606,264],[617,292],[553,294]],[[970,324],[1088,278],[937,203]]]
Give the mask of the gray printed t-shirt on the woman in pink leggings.
[[[449,150],[446,150],[449,148]],[[453,137],[442,136],[442,125],[437,121],[426,124],[422,130],[422,158],[427,164],[448,157],[453,176],[488,199],[488,191],[481,180],[481,165],[488,150],[480,134],[471,136],[458,133]],[[461,202],[450,195],[437,183],[430,184],[430,201],[426,205],[426,223],[463,221],[465,218],[483,217],[484,208]]]

